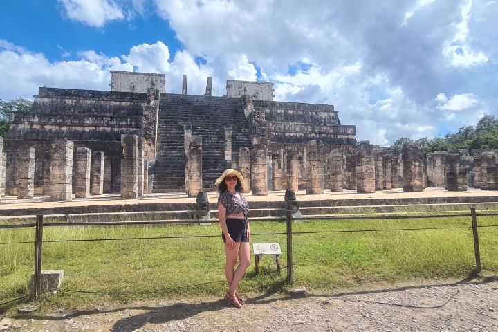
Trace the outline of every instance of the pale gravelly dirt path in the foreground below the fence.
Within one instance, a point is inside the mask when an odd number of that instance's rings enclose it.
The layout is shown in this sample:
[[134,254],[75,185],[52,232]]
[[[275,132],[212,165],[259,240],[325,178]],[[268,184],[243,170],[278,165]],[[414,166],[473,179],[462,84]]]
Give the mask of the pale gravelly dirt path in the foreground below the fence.
[[[1,320],[3,318],[3,320]],[[3,324],[2,322],[6,322]],[[0,317],[0,331],[498,331],[498,282],[405,286],[333,296],[259,296]]]

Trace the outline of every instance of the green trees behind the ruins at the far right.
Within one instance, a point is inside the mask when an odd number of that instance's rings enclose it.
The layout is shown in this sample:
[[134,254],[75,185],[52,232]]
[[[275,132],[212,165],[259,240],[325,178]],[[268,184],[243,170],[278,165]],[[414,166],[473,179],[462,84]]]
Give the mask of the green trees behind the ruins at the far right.
[[[391,145],[393,149],[400,150],[403,143],[414,141],[411,138],[401,137]],[[424,154],[434,151],[465,150],[494,150],[498,149],[498,119],[486,115],[475,126],[461,127],[457,133],[448,133],[444,137],[432,139],[421,138],[421,149]]]

